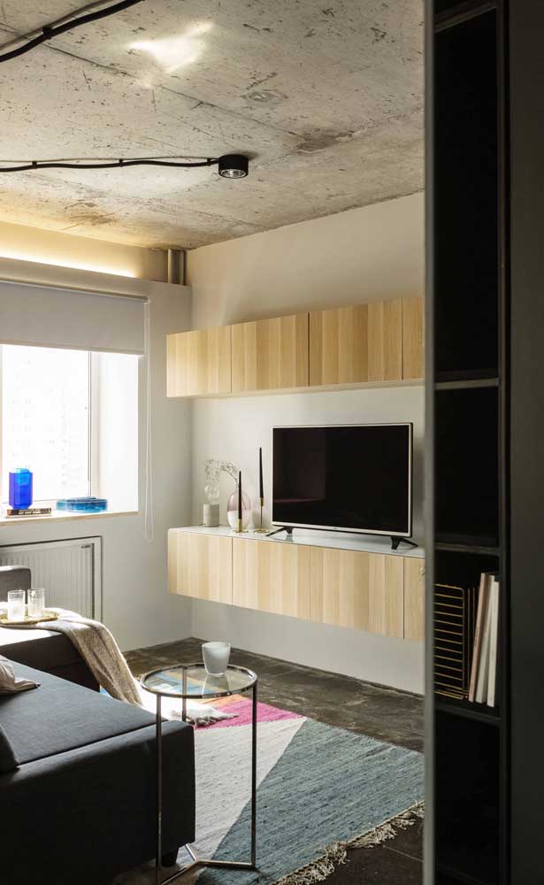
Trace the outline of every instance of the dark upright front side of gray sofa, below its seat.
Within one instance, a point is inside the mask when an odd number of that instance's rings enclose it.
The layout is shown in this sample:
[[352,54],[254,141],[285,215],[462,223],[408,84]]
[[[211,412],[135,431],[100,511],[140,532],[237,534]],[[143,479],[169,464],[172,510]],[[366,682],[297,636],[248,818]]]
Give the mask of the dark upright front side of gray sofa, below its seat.
[[[195,839],[192,727],[163,729],[163,852]],[[96,885],[155,857],[157,757],[148,726],[0,776],[3,869],[11,885]],[[28,850],[28,846],[32,850]],[[58,878],[62,871],[62,880]]]

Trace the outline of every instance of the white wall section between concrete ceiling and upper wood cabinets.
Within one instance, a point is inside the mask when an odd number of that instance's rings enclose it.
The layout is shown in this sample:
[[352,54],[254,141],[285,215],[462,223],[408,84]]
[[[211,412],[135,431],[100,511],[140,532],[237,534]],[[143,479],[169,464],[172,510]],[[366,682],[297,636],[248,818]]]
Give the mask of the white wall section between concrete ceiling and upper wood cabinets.
[[188,253],[195,328],[421,295],[422,194]]

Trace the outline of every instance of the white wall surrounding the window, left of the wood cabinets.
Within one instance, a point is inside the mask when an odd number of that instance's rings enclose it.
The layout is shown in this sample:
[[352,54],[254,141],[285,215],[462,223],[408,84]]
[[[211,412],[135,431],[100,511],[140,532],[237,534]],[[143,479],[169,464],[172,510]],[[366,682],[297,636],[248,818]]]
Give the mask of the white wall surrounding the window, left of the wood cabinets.
[[[31,242],[28,243],[31,248]],[[190,327],[190,290],[161,282],[0,259],[0,277],[67,287],[147,295],[151,302],[152,439],[155,540],[144,537],[144,458],[140,458],[140,512],[100,519],[45,520],[0,527],[0,544],[103,537],[103,619],[122,649],[191,635],[187,599],[168,596],[166,537],[190,519],[191,404],[166,399],[165,335]],[[139,449],[145,451],[145,385],[140,365]]]

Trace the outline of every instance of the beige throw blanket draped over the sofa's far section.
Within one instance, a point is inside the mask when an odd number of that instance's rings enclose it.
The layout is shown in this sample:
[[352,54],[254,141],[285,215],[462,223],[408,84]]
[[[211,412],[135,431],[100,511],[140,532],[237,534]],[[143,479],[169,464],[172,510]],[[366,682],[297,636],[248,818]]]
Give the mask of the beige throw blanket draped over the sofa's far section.
[[142,706],[134,676],[108,628],[97,620],[82,618],[65,609],[53,608],[50,611],[57,612],[58,620],[44,621],[37,626],[67,636],[80,652],[98,684],[111,697],[117,697],[127,704]]

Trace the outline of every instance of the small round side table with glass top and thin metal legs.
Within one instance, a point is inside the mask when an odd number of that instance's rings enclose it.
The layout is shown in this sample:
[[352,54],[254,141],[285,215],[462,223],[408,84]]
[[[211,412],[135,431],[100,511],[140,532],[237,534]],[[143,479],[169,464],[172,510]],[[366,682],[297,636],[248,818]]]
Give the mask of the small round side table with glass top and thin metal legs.
[[[174,664],[144,673],[140,680],[142,689],[157,696],[157,885],[166,885],[197,866],[215,866],[234,870],[257,869],[257,675],[243,666],[228,666],[223,676],[209,676],[203,664]],[[163,804],[163,720],[161,702],[163,697],[179,697],[182,701],[182,720],[187,721],[188,700],[211,700],[212,698],[243,695],[251,691],[253,715],[251,720],[251,860],[212,860],[198,858],[190,845],[185,845],[192,863],[184,870],[162,880],[162,804]]]

